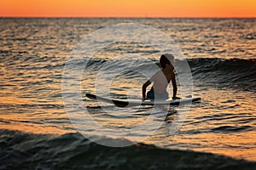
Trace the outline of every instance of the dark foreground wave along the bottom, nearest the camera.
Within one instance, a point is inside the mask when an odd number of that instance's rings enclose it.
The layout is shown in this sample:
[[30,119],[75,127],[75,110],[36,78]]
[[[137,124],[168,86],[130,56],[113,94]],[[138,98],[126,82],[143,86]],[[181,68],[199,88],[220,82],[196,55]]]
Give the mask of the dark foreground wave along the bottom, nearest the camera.
[[254,169],[256,166],[256,162],[148,144],[111,148],[92,143],[79,133],[60,136],[2,129],[0,150],[0,169]]

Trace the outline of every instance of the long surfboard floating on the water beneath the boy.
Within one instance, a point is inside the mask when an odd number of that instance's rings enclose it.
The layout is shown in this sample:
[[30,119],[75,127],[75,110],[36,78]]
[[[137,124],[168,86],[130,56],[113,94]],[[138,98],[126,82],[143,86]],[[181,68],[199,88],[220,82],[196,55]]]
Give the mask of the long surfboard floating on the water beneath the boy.
[[126,107],[126,106],[138,106],[138,105],[185,105],[195,101],[201,100],[201,98],[187,98],[187,99],[175,99],[175,100],[128,100],[128,99],[108,99],[101,96],[97,96],[95,94],[85,94],[85,96],[89,99],[100,100],[103,102],[107,102],[118,107]]

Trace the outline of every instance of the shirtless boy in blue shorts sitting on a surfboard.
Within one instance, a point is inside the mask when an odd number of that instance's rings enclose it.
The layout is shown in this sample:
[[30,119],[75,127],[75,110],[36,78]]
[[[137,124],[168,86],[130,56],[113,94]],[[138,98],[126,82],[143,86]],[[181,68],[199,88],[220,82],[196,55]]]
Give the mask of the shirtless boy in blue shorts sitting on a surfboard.
[[[143,84],[143,100],[145,99],[162,99],[169,98],[166,92],[168,84],[172,81],[173,95],[172,99],[180,99],[177,95],[177,83],[174,74],[174,57],[172,54],[162,54],[160,57],[161,71],[157,71],[153,77]],[[153,82],[153,86],[147,94],[146,88]]]

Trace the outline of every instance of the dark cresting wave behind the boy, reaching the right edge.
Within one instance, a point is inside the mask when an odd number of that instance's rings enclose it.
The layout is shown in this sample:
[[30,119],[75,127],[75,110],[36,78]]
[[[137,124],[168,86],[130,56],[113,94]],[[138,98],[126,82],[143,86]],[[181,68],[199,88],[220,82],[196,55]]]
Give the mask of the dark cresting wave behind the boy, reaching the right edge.
[[[152,61],[153,64],[160,66],[158,60],[152,59]],[[90,71],[97,71],[102,69],[102,65],[107,62],[108,59],[91,59],[87,66]],[[199,80],[202,85],[256,91],[256,59],[196,58],[176,60],[177,66],[183,65],[183,62],[189,63],[193,78]],[[116,71],[124,69],[125,66],[130,70],[124,71],[124,74],[127,74],[125,76],[128,78],[136,77],[137,72],[135,71],[154,71],[155,69],[152,63],[148,63],[143,59],[132,62],[129,59],[117,60],[108,64],[107,67],[105,66],[105,69]]]

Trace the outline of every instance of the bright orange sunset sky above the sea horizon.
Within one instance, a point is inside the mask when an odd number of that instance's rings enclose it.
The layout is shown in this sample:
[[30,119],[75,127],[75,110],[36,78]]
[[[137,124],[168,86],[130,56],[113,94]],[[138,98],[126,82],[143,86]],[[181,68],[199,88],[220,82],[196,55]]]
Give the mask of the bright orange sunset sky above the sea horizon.
[[0,16],[256,17],[256,0],[1,0]]

